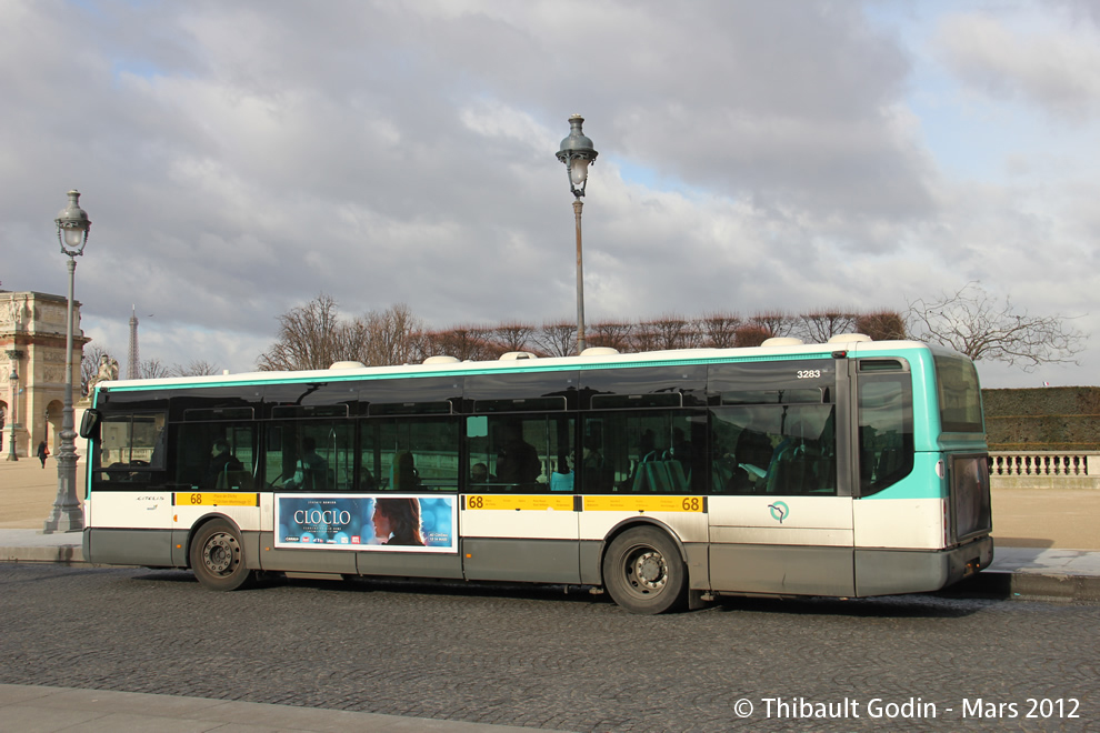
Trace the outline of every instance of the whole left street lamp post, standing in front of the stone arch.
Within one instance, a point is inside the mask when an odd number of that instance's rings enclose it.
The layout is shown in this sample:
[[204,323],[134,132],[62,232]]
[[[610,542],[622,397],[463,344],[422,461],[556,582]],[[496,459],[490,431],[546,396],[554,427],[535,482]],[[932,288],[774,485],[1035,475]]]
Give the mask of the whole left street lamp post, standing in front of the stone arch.
[[58,452],[58,495],[53,511],[46,520],[44,534],[79,532],[84,529],[84,515],[77,499],[77,432],[72,423],[72,278],[76,258],[84,253],[91,219],[80,208],[80,192],[69,191],[69,205],[54,220],[61,253],[69,258],[69,318],[64,334],[64,408],[61,412],[61,450]]

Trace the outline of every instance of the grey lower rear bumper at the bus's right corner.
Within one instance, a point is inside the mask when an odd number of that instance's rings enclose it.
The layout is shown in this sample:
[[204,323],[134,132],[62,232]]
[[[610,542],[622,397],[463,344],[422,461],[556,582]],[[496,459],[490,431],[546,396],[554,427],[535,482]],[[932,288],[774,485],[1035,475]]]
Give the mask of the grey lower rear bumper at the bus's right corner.
[[856,595],[928,593],[952,585],[993,562],[993,538],[947,550],[856,549]]

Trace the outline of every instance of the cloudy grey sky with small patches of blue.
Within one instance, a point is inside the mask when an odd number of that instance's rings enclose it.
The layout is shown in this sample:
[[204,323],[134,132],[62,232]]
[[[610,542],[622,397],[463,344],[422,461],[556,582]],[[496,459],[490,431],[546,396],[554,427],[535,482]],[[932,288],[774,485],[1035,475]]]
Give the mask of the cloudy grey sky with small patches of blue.
[[[1100,327],[1089,0],[0,0],[0,282],[124,364],[250,371],[276,317],[898,309],[970,281]],[[987,386],[1096,384],[980,363]]]

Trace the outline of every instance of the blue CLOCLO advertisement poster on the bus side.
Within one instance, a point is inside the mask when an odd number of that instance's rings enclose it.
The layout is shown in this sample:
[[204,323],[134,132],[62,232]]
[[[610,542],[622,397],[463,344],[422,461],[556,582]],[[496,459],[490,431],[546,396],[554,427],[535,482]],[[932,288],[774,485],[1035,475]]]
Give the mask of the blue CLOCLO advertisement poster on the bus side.
[[282,549],[458,552],[457,496],[277,494]]

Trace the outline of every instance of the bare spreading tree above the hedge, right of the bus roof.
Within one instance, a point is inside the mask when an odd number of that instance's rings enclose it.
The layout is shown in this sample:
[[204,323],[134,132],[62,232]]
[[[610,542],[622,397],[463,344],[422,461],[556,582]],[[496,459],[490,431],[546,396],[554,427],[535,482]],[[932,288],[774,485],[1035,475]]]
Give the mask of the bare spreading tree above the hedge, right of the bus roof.
[[1084,335],[1067,325],[1062,315],[1028,315],[986,291],[978,281],[934,301],[910,302],[909,331],[922,341],[949,347],[974,361],[1022,364],[1026,372],[1040,364],[1077,363]]

